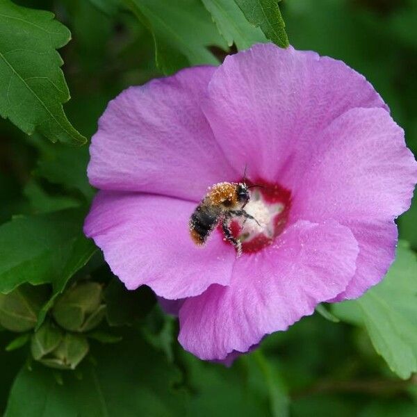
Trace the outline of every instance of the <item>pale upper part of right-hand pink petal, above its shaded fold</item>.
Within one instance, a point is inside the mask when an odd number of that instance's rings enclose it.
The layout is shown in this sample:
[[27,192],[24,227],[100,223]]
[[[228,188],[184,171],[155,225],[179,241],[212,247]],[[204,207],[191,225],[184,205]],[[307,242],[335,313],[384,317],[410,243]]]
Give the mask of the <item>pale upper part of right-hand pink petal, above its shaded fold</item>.
[[291,215],[313,222],[393,220],[411,204],[417,163],[404,131],[381,108],[354,108],[322,132]]

